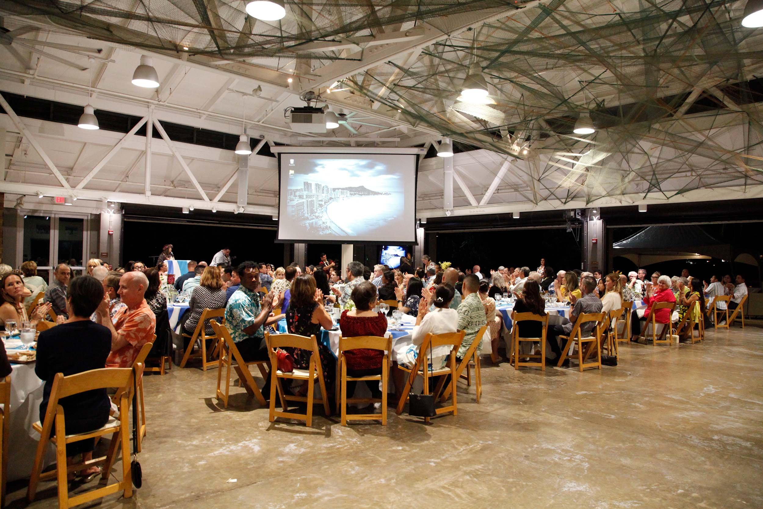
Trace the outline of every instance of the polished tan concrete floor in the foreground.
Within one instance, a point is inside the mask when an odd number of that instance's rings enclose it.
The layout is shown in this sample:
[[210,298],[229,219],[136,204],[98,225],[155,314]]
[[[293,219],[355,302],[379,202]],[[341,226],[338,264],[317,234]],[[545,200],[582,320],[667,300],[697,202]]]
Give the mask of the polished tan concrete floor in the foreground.
[[[601,371],[488,359],[481,404],[462,388],[457,417],[311,429],[270,424],[238,387],[217,408],[216,369],[173,369],[146,378],[143,488],[100,507],[763,507],[761,361],[750,325],[622,345]],[[55,490],[29,507],[56,507]]]

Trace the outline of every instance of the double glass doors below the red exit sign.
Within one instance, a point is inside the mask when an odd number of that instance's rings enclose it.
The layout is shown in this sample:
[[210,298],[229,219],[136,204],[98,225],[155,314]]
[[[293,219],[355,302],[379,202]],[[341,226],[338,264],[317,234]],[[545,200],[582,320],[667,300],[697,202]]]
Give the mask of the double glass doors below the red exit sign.
[[71,267],[72,277],[82,275],[89,245],[88,214],[42,214],[40,211],[24,214],[23,249],[18,263],[34,260],[37,275],[48,284],[59,263]]

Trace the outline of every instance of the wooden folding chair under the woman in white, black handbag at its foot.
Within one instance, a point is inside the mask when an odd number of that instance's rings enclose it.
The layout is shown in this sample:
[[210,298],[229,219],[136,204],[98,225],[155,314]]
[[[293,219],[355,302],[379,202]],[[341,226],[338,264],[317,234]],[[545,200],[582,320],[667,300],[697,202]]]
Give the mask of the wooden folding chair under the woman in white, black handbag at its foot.
[[[451,380],[458,380],[458,378],[456,378],[456,352],[459,351],[459,347],[461,346],[461,343],[464,340],[464,336],[465,336],[464,330],[459,330],[458,332],[452,332],[452,333],[446,333],[446,334],[428,333],[427,336],[424,337],[423,343],[421,343],[421,347],[419,349],[419,356],[416,359],[416,365],[413,367],[413,369],[408,369],[407,367],[402,366],[401,364],[398,364],[399,369],[402,369],[404,372],[408,373],[408,379],[407,379],[407,382],[405,382],[403,395],[400,398],[400,401],[398,401],[398,408],[396,409],[396,412],[398,415],[403,413],[403,407],[405,406],[405,402],[408,401],[408,393],[410,392],[410,388],[413,387],[414,381],[416,380],[416,377],[418,375],[422,375],[424,379],[424,385],[423,385],[424,395],[429,394],[429,377],[430,376],[450,375]],[[440,369],[428,369],[429,362],[427,360],[428,359],[427,356],[429,356],[430,346],[434,348],[435,346],[442,346],[442,345],[452,345],[452,348],[449,354],[449,359],[448,359],[448,362],[446,363],[446,367],[440,368]],[[457,391],[452,391],[452,393],[453,393],[452,404],[450,404],[447,407],[437,408],[435,410],[437,415],[446,414],[447,412],[453,412],[453,415],[459,414],[459,409],[456,406]],[[435,396],[436,395],[437,395],[437,392],[435,392]],[[424,417],[424,421],[427,423],[430,422],[430,417]]]

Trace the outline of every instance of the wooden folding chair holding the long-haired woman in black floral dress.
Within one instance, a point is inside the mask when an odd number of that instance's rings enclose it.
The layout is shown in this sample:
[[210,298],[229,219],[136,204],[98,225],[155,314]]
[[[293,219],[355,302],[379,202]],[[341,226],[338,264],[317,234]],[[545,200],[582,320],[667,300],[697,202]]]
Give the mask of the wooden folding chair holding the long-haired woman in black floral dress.
[[[329,400],[326,392],[326,383],[324,382],[324,367],[320,364],[320,354],[318,353],[318,342],[313,334],[311,337],[298,336],[296,334],[274,334],[265,333],[265,340],[268,343],[268,354],[270,356],[270,415],[269,420],[273,422],[275,417],[286,417],[287,419],[304,420],[305,426],[313,425],[313,405],[322,403],[324,412],[328,417],[331,413],[329,409]],[[294,369],[294,371],[285,373],[278,369],[278,357],[276,348],[299,348],[312,352],[310,356],[310,365],[308,369]],[[287,395],[281,385],[281,379],[301,380],[307,382],[307,397]],[[314,399],[315,379],[320,385],[320,399]],[[281,395],[282,411],[275,411],[275,392]],[[286,401],[301,401],[307,403],[307,414],[294,414],[288,411]]]

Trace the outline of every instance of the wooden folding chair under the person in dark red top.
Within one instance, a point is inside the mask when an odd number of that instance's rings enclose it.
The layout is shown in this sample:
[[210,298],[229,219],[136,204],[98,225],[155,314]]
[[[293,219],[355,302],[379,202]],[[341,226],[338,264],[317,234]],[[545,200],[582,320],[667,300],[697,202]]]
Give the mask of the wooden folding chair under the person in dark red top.
[[[384,356],[381,357],[381,373],[369,376],[348,376],[347,358],[344,355],[346,350],[357,350],[359,348],[368,350],[382,350]],[[389,377],[389,352],[392,349],[391,337],[378,336],[358,336],[339,338],[339,359],[337,362],[337,379],[339,380],[339,390],[336,391],[336,399],[342,408],[342,426],[347,425],[348,420],[376,420],[378,414],[347,414],[348,403],[381,403],[381,425],[387,425],[387,385]],[[362,382],[365,380],[378,380],[381,382],[381,399],[378,398],[347,398],[347,382]],[[341,395],[341,398],[340,398]]]

